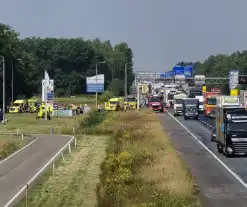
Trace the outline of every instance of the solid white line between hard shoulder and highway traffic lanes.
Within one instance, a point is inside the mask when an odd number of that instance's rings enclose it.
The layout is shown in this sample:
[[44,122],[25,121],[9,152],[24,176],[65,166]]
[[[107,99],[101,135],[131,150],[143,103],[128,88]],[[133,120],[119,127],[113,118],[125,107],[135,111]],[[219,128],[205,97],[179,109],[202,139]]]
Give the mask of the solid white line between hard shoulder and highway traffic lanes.
[[184,126],[178,119],[176,119],[170,112],[168,114],[179,123],[209,154],[213,156],[238,182],[240,182],[246,189],[247,183],[245,183],[235,172],[233,172],[216,154],[214,154],[205,144],[203,144],[186,126]]

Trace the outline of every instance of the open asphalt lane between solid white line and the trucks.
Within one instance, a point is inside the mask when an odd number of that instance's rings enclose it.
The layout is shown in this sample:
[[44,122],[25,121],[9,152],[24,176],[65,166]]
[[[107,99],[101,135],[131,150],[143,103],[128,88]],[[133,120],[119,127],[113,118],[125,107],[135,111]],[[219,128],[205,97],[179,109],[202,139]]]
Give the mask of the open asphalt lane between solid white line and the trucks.
[[203,142],[217,157],[219,157],[232,171],[247,183],[247,157],[227,158],[217,150],[216,142],[212,142],[211,130],[204,127],[196,120],[183,120],[179,117],[178,120],[187,127],[199,140]]

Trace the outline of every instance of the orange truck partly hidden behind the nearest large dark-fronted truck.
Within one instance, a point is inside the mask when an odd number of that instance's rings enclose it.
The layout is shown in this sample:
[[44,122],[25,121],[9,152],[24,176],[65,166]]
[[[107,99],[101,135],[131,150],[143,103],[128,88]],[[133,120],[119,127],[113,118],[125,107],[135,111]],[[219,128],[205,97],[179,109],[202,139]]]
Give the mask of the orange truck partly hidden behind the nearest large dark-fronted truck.
[[220,91],[205,92],[203,94],[203,111],[204,116],[209,117],[211,111],[216,107],[216,98],[220,96]]

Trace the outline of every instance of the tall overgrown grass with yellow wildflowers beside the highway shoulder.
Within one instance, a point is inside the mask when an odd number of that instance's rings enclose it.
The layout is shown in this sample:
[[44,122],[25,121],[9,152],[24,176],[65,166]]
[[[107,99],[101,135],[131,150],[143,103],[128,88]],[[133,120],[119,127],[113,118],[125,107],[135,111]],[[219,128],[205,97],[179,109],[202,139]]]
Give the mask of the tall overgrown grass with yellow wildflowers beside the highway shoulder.
[[98,185],[98,206],[202,206],[185,163],[149,110],[111,114],[100,134],[112,134]]

